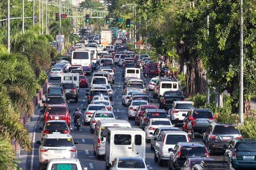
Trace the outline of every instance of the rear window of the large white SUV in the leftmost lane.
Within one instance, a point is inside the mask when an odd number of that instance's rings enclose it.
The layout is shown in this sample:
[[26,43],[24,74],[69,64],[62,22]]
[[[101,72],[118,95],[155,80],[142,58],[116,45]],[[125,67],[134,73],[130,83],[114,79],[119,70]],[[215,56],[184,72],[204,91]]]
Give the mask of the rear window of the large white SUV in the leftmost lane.
[[72,138],[45,138],[43,140],[42,146],[44,147],[72,147],[74,142]]

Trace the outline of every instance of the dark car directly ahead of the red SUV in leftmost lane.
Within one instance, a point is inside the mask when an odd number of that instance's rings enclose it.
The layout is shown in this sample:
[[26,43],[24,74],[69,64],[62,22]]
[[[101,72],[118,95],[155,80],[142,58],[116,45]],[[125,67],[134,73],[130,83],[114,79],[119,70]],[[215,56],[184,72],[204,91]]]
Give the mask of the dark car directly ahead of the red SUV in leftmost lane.
[[60,95],[48,95],[45,101],[42,101],[44,103],[43,105],[43,111],[47,108],[48,105],[60,105],[64,104],[67,105],[67,102],[64,96]]

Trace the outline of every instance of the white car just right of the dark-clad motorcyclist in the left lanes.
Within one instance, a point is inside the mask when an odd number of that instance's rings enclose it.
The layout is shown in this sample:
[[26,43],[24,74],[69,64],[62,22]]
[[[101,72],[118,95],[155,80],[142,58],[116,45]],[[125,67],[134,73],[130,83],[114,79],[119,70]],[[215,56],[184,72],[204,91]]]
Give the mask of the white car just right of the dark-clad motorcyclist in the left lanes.
[[105,105],[92,105],[89,104],[86,108],[86,110],[84,111],[84,125],[88,125],[90,124],[90,119],[93,116],[93,113],[97,110],[107,110]]

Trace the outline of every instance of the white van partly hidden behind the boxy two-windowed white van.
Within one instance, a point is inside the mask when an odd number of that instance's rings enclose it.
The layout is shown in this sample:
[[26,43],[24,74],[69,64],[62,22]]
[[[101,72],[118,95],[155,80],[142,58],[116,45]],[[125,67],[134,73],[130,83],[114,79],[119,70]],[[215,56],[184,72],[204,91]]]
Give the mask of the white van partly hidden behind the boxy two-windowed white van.
[[[96,158],[101,155],[105,156],[105,144],[108,133],[108,127],[131,127],[131,124],[126,120],[118,119],[100,119],[98,120],[93,137],[93,151]],[[100,139],[103,138],[101,141]]]

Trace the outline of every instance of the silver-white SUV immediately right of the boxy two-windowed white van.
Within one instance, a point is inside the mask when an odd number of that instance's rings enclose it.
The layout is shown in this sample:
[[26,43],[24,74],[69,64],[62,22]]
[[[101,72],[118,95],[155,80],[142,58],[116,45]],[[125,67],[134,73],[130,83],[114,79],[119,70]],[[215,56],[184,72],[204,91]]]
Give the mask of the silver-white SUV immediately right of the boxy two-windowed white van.
[[162,131],[155,141],[154,152],[158,158],[158,165],[163,166],[164,161],[169,161],[169,148],[174,149],[178,142],[190,142],[189,136],[183,131]]

